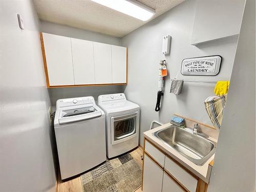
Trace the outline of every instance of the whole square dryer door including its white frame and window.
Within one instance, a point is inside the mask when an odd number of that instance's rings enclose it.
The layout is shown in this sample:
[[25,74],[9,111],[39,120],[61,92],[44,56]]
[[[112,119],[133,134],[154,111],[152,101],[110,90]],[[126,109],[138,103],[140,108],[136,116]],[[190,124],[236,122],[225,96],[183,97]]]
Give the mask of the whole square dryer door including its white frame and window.
[[111,144],[121,143],[138,134],[139,112],[111,117]]

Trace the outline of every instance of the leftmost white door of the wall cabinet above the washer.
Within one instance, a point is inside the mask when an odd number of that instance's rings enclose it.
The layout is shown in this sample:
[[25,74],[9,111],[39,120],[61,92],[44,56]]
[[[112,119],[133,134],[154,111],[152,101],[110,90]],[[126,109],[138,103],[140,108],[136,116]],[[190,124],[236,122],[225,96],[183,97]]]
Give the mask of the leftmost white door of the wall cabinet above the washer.
[[74,85],[71,40],[43,33],[50,86]]

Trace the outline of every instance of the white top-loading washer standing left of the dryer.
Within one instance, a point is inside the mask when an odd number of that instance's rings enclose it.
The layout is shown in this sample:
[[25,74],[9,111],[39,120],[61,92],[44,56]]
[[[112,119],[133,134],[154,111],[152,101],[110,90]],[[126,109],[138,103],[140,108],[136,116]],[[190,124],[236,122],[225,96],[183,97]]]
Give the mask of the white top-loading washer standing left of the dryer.
[[61,179],[106,160],[105,115],[93,97],[57,100],[54,130]]

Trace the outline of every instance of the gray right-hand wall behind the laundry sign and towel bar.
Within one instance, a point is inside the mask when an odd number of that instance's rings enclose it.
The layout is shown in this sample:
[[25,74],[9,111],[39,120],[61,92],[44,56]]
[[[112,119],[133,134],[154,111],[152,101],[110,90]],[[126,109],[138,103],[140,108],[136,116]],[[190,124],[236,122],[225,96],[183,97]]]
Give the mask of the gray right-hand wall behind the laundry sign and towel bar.
[[[196,1],[185,1],[121,39],[121,45],[128,47],[129,62],[129,83],[124,93],[141,107],[140,144],[142,133],[149,129],[152,120],[166,123],[174,113],[211,124],[204,108],[204,100],[214,95],[215,84],[184,82],[182,94],[176,96],[169,93],[170,78],[208,81],[230,79],[237,37],[191,46],[195,8]],[[161,54],[162,37],[167,34],[172,36],[172,40],[170,55],[164,57]],[[221,71],[217,76],[180,74],[184,58],[208,55],[222,56]],[[167,60],[168,77],[165,78],[161,111],[155,112],[160,59]]]

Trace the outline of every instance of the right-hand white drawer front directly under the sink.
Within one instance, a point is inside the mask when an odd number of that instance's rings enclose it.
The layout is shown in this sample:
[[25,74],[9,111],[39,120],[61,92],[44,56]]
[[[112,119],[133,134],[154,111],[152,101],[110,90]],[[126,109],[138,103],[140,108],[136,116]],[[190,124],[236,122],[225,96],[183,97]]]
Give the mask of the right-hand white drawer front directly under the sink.
[[190,192],[196,192],[198,180],[187,173],[182,167],[165,157],[164,168],[172,174],[182,185],[184,185]]

